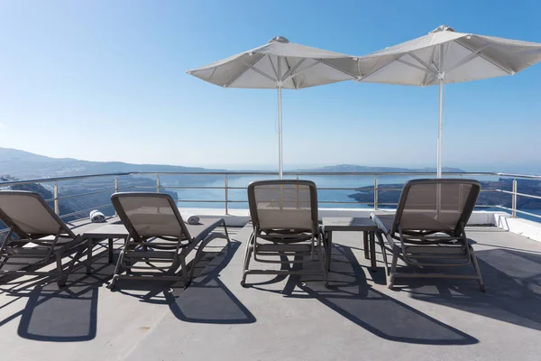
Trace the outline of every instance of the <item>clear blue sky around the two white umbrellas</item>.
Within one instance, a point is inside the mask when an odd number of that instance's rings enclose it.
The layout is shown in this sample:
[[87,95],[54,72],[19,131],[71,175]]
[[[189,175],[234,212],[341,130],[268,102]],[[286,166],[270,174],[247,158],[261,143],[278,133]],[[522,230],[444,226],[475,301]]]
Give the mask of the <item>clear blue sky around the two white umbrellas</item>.
[[[353,55],[440,24],[541,42],[540,18],[538,0],[4,0],[0,146],[92,161],[275,169],[276,92],[216,87],[187,69],[276,35]],[[445,89],[444,166],[536,167],[541,64]],[[437,91],[354,82],[284,90],[286,168],[436,166]]]

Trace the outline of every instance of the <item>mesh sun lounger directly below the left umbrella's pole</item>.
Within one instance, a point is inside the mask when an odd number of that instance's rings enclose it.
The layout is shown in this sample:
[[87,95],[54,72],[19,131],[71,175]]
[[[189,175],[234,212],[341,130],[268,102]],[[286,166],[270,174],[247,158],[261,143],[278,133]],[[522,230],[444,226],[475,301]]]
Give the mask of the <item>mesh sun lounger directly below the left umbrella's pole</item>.
[[[245,285],[248,274],[317,274],[327,284],[316,184],[309,180],[254,181],[248,186],[248,203],[253,231],[246,245],[241,284]],[[306,265],[315,257],[319,270],[290,267]],[[282,267],[250,269],[252,258]]]

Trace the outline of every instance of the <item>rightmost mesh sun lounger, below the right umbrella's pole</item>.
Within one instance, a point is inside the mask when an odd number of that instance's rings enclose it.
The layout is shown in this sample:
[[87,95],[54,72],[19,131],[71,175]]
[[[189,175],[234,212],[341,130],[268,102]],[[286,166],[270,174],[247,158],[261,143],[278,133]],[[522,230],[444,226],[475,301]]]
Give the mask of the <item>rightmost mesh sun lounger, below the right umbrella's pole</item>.
[[[389,288],[398,277],[462,278],[479,282],[481,271],[464,227],[481,191],[477,180],[410,180],[404,186],[395,215],[372,215],[380,231],[382,253],[385,236],[392,250]],[[421,267],[473,265],[475,274],[400,273],[399,257],[408,265]]]

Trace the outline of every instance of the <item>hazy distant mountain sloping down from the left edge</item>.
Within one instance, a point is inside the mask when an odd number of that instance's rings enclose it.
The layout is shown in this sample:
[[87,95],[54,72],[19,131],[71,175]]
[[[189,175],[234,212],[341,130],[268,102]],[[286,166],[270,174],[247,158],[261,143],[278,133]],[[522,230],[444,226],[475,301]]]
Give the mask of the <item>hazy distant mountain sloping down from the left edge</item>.
[[223,171],[163,164],[132,164],[124,162],[88,162],[73,158],[50,158],[44,155],[0,147],[0,172],[19,179],[52,178],[83,174],[129,171]]

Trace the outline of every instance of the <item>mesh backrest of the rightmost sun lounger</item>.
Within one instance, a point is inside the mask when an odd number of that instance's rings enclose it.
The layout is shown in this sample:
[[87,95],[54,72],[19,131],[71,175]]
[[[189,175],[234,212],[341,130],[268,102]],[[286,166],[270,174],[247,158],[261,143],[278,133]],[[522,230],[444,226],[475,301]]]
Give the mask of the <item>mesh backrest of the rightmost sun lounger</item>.
[[393,224],[407,230],[455,231],[472,215],[481,191],[477,180],[409,180]]

